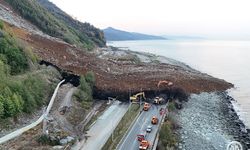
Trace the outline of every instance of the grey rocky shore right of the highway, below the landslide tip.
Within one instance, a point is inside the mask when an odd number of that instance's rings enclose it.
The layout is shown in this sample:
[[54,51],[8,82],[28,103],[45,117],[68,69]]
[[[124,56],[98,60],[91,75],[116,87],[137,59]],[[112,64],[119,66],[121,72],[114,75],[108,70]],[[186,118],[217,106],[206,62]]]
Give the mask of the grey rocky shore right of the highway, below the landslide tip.
[[[222,150],[231,141],[250,148],[250,133],[233,109],[225,92],[192,94],[174,118],[180,125],[178,149]],[[247,132],[248,131],[248,132]]]

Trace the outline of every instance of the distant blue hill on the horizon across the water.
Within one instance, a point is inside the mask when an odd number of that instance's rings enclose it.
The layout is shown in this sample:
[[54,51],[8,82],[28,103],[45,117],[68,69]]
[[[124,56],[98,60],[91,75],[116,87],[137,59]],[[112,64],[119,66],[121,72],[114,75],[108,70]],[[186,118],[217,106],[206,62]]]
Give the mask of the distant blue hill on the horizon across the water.
[[126,32],[112,27],[103,29],[106,40],[108,41],[126,41],[126,40],[164,40],[164,37],[147,35],[135,32]]

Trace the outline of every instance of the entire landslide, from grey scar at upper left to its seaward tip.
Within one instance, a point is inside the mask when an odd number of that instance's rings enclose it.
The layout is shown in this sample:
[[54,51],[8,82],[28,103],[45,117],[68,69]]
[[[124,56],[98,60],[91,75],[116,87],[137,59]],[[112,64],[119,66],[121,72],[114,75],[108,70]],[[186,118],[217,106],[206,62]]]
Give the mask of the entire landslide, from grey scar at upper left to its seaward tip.
[[172,88],[182,88],[189,93],[226,90],[233,86],[178,61],[155,55],[121,51],[116,48],[95,48],[94,52],[87,53],[60,39],[44,33],[37,34],[41,31],[30,27],[30,22],[15,12],[5,9],[1,9],[1,12],[6,16],[0,16],[2,19],[15,25],[9,25],[8,28],[15,33],[16,38],[29,45],[40,60],[77,75],[93,71],[96,75],[95,89],[98,95],[119,96],[128,95],[129,91],[154,91],[158,90],[157,83],[160,80],[171,81]]

